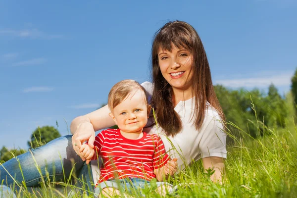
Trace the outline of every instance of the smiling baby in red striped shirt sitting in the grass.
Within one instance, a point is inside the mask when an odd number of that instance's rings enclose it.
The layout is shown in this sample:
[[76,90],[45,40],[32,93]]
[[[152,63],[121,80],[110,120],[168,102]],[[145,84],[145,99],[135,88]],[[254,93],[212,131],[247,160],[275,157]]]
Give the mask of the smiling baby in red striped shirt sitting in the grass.
[[158,193],[170,191],[171,186],[162,181],[177,171],[177,159],[170,160],[158,135],[143,133],[151,108],[145,89],[136,81],[123,80],[111,88],[108,107],[119,129],[103,130],[94,149],[88,144],[80,149],[87,160],[98,156],[103,160],[95,194],[120,195],[120,188],[131,193],[153,178],[159,181]]

